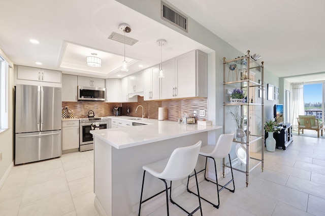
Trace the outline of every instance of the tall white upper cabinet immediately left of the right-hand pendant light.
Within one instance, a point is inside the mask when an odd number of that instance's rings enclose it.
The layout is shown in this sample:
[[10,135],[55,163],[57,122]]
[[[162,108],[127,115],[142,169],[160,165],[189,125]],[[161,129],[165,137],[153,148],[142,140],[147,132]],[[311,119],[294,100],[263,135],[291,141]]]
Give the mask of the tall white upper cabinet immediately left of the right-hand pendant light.
[[159,100],[159,65],[147,68],[143,72],[144,75],[144,100]]

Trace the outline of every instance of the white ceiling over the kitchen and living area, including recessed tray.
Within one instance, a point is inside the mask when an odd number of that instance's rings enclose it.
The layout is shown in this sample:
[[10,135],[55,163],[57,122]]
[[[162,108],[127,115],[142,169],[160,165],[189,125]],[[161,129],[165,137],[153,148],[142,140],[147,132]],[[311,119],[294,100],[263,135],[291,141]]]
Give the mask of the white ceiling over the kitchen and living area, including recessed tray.
[[[242,53],[249,49],[262,55],[268,71],[279,77],[325,71],[323,0],[168,2]],[[167,40],[163,61],[193,49],[212,52],[114,0],[2,1],[0,20],[0,47],[14,64],[40,67],[35,62],[42,62],[41,67],[64,73],[123,77],[141,70],[139,64],[146,68],[160,62],[157,39]],[[136,60],[129,72],[119,71],[124,45],[107,39],[112,32],[120,33],[121,23],[132,28],[126,36],[139,40],[125,48],[127,59]],[[31,44],[31,38],[40,44]],[[93,52],[103,67],[85,65]]]

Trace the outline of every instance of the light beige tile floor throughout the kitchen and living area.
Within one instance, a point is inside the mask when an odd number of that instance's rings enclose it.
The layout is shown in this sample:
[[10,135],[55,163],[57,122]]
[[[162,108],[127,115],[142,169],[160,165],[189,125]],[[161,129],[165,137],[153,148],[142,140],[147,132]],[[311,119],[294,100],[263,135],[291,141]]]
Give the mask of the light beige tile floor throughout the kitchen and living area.
[[[324,153],[324,139],[294,136],[285,151],[265,151],[264,172],[252,170],[248,187],[234,170],[235,193],[222,190],[219,209],[202,200],[203,215],[325,215]],[[202,195],[214,190],[200,183]],[[0,215],[98,215],[93,200],[93,151],[75,152],[14,166],[0,190]],[[185,192],[175,201],[190,210],[198,199]],[[173,204],[170,212],[185,215]],[[166,215],[166,206],[150,214],[158,215]]]

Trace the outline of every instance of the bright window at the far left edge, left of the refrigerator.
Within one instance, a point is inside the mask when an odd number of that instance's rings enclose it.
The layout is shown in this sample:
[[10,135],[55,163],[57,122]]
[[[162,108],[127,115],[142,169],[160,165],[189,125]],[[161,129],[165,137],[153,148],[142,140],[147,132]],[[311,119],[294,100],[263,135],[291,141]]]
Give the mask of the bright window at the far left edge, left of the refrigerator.
[[0,56],[0,133],[8,128],[8,63]]

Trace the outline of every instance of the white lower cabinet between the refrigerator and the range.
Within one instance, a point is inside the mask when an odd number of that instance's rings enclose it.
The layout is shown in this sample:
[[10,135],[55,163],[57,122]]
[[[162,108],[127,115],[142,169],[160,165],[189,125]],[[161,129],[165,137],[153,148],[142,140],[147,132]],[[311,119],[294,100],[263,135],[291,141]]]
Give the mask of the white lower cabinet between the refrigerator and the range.
[[79,148],[79,120],[62,121],[62,150]]

